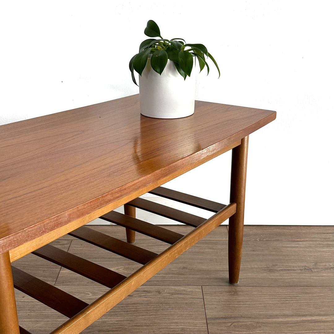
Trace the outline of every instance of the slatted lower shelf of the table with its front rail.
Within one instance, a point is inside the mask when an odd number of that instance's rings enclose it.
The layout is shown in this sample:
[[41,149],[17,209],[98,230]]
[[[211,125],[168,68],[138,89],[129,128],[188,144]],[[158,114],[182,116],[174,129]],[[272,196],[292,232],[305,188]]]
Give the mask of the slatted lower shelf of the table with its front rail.
[[[142,198],[137,198],[128,203],[131,206],[193,226],[194,229],[186,235],[115,211],[111,211],[101,217],[109,222],[170,244],[170,246],[160,254],[97,232],[86,226],[77,228],[69,233],[71,236],[79,238],[80,240],[142,264],[140,269],[128,277],[51,245],[45,245],[33,252],[33,254],[38,257],[58,264],[110,288],[107,293],[92,304],[89,305],[63,292],[57,287],[49,285],[15,268],[15,266],[12,267],[15,288],[69,318],[68,321],[60,325],[57,329],[52,331],[52,333],[80,333],[198,240],[203,238],[207,233],[232,216],[236,211],[235,203],[224,205],[163,187],[158,187],[152,190],[151,193],[200,207],[215,212],[215,214],[209,219],[205,219]],[[20,327],[20,333],[29,332]]]

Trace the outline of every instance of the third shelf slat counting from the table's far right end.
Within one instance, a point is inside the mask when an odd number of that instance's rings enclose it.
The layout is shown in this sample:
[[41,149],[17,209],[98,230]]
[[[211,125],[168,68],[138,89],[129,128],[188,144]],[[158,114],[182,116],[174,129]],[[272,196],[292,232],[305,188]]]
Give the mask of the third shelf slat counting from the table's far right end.
[[175,243],[184,236],[167,228],[153,225],[116,211],[108,212],[100,218],[170,244]]

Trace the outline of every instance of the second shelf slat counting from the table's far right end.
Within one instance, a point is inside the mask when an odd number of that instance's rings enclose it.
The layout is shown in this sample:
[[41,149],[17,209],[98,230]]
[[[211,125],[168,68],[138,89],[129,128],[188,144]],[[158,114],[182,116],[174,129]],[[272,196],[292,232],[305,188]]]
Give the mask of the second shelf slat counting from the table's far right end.
[[195,216],[191,213],[183,212],[181,210],[177,210],[159,203],[151,202],[143,198],[136,198],[128,204],[138,209],[143,209],[152,213],[156,213],[160,216],[170,218],[193,227],[199,226],[206,220],[205,218]]

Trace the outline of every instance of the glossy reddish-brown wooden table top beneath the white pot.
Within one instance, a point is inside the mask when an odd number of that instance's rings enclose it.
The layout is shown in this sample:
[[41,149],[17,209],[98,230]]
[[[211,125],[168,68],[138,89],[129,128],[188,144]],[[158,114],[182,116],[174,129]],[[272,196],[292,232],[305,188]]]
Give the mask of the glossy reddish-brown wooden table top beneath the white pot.
[[140,115],[133,95],[2,125],[0,252],[141,195],[275,118],[196,101],[192,116],[154,119]]

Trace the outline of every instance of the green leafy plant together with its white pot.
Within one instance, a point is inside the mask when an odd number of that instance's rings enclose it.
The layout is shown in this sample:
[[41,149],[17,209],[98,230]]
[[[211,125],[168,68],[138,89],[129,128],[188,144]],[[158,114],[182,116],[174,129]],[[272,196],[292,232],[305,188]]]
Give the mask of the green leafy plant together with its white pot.
[[[187,44],[183,38],[164,39],[158,25],[149,20],[144,33],[149,38],[139,46],[139,53],[129,63],[132,80],[139,74],[140,112],[154,118],[180,118],[194,113],[197,59],[200,71],[210,58],[219,76],[219,67],[203,44]],[[158,38],[157,38],[158,37]]]

